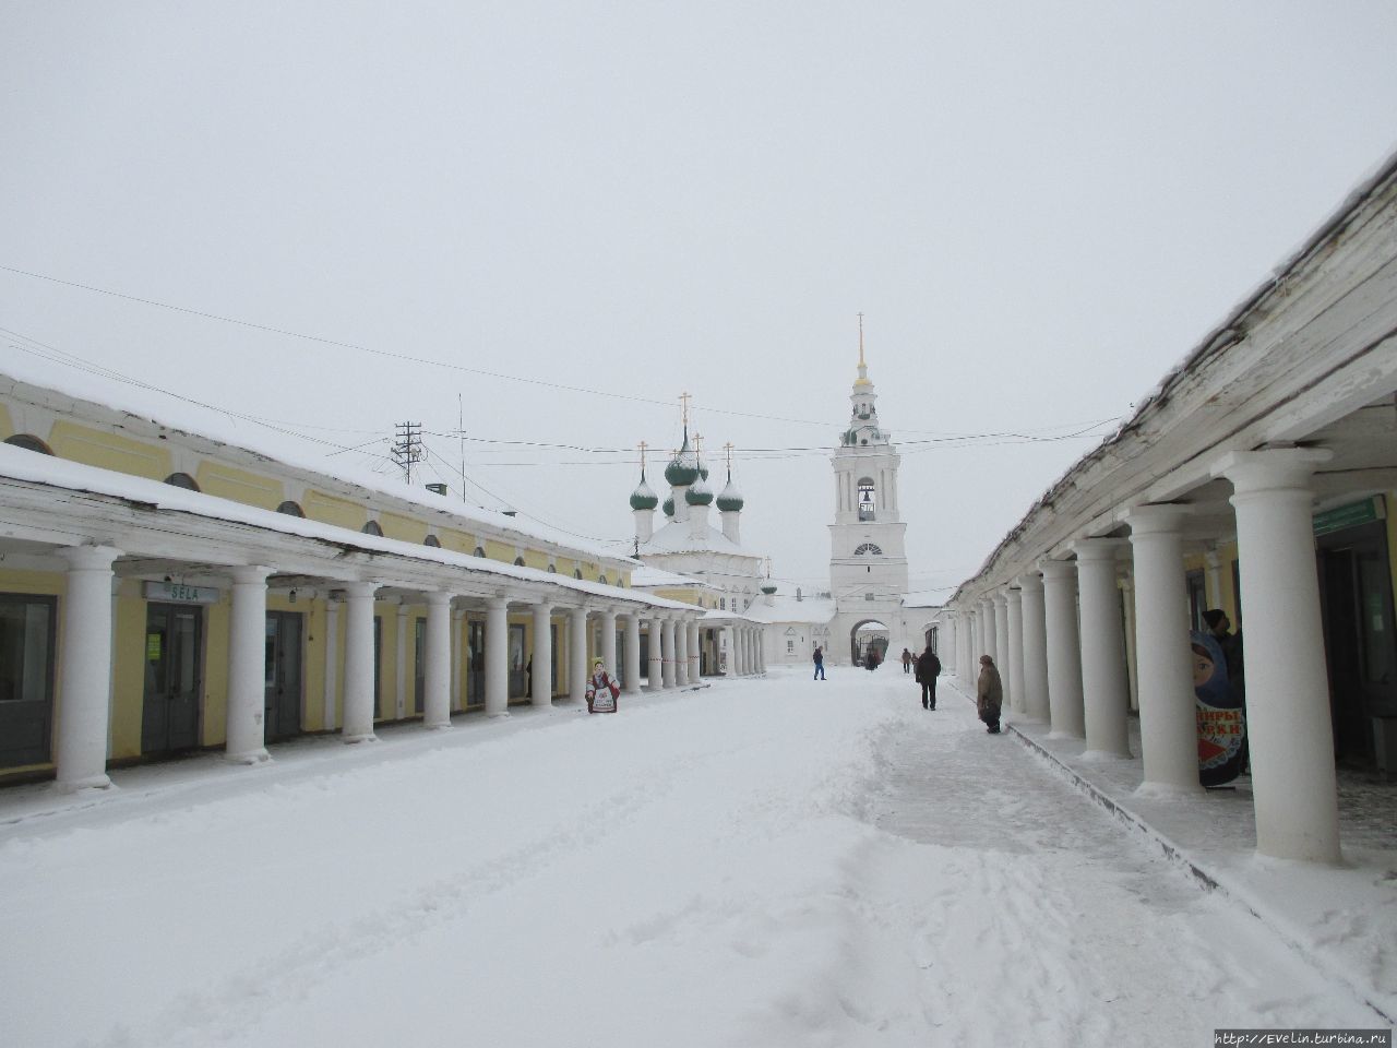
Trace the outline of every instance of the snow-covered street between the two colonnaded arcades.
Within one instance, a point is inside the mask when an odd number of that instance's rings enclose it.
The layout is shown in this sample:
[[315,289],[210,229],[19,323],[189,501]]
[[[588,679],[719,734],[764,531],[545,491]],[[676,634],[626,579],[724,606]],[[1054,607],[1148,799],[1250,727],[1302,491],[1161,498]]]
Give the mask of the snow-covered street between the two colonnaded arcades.
[[[458,718],[0,826],[11,1045],[1206,1045],[1372,1027],[897,668]],[[155,780],[152,780],[155,781]]]

